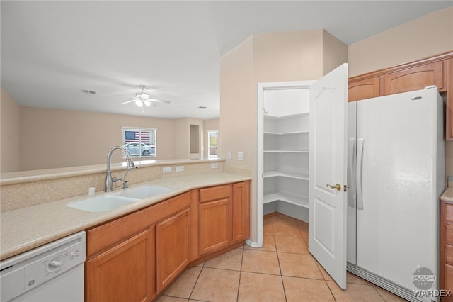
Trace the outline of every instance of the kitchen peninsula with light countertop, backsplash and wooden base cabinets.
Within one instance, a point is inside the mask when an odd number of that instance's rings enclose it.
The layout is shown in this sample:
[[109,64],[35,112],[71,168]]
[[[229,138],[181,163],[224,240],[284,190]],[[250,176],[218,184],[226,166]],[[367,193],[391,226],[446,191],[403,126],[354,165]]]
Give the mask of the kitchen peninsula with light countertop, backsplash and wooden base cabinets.
[[[151,185],[168,187],[171,191],[101,212],[83,211],[68,204],[111,193],[96,190],[96,194],[89,197],[84,194],[49,201],[46,198],[52,197],[45,191],[52,189],[50,185],[55,179],[62,181],[55,175],[45,179],[31,176],[26,181],[19,177],[16,184],[4,181],[3,184],[11,186],[9,189],[16,190],[18,196],[21,190],[14,186],[28,186],[24,191],[37,184],[42,184],[42,188],[35,196],[38,204],[30,201],[32,205],[22,204],[20,208],[0,214],[1,259],[84,230],[85,300],[153,300],[187,267],[243,245],[249,236],[251,177],[224,172],[222,161],[201,161],[196,167],[190,167],[193,161],[174,164],[184,164],[188,169],[184,169],[184,174],[159,174],[162,167],[151,164],[152,169],[133,172],[142,173],[141,179],[152,179],[134,181],[129,189],[113,190],[126,194],[123,191]],[[206,164],[209,169],[203,168]],[[222,169],[218,169],[219,165]],[[83,175],[69,172],[66,175],[68,186],[77,184],[79,177],[93,177],[86,172],[89,170],[84,170]],[[93,173],[95,180],[96,174],[103,174],[94,170]],[[77,190],[80,188],[74,191]],[[27,203],[26,198],[21,199],[22,203]],[[135,288],[133,293],[131,288]]]

